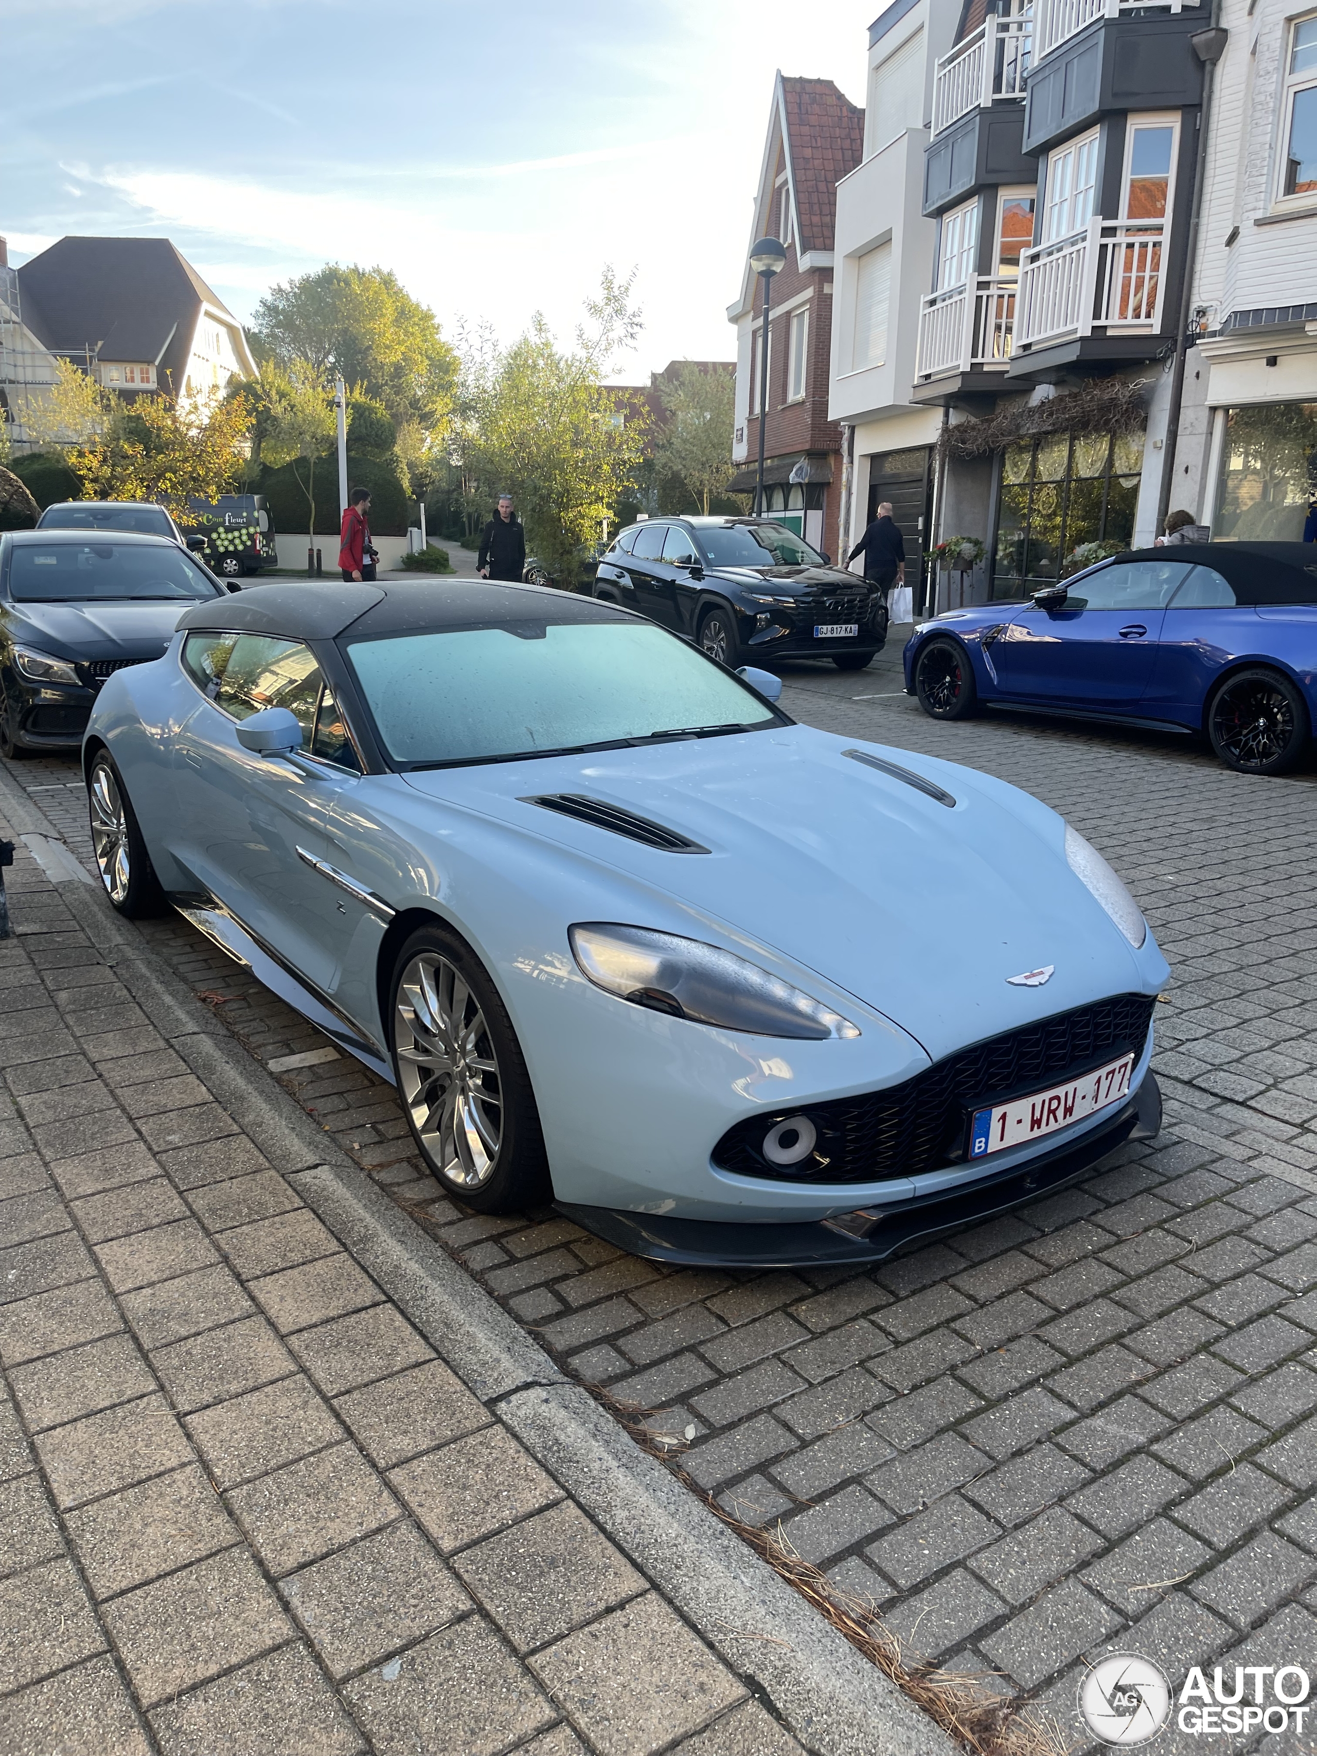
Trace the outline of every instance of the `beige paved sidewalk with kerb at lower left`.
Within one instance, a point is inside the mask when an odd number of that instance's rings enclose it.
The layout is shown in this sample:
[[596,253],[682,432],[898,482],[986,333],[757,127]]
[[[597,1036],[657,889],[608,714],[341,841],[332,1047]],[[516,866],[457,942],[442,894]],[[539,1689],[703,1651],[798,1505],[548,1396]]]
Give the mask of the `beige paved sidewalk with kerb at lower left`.
[[4,1756],[950,1749],[28,838]]

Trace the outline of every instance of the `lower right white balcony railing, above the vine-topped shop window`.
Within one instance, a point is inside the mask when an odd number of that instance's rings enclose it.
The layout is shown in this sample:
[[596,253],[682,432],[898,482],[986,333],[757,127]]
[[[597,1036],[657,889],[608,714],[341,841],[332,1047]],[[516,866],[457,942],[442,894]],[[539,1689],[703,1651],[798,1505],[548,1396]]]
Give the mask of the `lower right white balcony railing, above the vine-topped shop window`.
[[1015,346],[1094,328],[1161,327],[1162,220],[1090,220],[1082,232],[1020,255]]

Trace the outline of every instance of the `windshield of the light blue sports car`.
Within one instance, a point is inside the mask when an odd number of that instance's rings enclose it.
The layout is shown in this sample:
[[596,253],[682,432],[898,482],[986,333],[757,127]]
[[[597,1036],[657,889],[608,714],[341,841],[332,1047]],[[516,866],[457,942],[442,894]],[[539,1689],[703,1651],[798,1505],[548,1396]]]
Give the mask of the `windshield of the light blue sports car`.
[[780,723],[694,646],[632,622],[393,634],[351,641],[348,657],[385,748],[409,767]]

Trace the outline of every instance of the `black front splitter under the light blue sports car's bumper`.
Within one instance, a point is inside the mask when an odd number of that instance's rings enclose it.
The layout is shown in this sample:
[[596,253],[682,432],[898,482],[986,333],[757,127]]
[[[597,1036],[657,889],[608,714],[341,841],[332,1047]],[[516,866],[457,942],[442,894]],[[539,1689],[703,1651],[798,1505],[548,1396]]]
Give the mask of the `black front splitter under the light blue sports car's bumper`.
[[[806,1268],[810,1264],[874,1264],[929,1243],[950,1231],[978,1226],[996,1213],[1055,1194],[1087,1177],[1127,1140],[1152,1140],[1161,1127],[1161,1090],[1152,1073],[1120,1110],[1092,1134],[1057,1147],[1004,1175],[922,1201],[867,1208],[857,1215],[801,1224],[673,1219],[622,1208],[557,1201],[560,1213],[606,1238],[620,1250],[655,1263],[688,1268]],[[853,1229],[839,1229],[839,1227]]]

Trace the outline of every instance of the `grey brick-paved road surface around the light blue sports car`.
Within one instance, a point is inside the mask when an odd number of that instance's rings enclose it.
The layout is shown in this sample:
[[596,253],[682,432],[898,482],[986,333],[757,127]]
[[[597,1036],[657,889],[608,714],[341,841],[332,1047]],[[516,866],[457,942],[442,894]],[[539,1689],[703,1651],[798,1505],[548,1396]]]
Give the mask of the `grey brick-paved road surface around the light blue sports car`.
[[[183,922],[148,936],[569,1371],[694,1426],[697,1482],[780,1521],[913,1651],[1034,1693],[1078,1747],[1103,1651],[1180,1677],[1317,1649],[1317,774],[1059,722],[936,725],[896,658],[795,666],[783,706],[1055,806],[1129,882],[1173,987],[1155,1143],[878,1271],[664,1271],[553,1213],[465,1215],[390,1087]],[[67,766],[12,773],[84,846]]]

